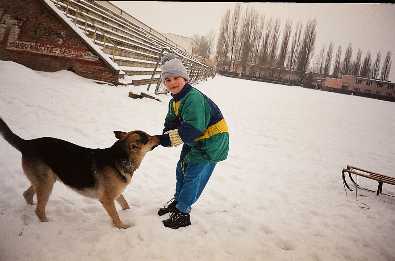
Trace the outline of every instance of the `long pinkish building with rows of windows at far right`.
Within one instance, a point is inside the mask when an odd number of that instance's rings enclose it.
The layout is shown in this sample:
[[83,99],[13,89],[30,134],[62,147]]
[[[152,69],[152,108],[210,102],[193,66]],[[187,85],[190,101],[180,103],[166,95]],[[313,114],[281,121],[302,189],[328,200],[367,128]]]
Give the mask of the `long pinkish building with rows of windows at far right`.
[[319,79],[315,85],[316,89],[327,90],[327,88],[335,88],[395,97],[395,84],[391,83],[391,81],[363,78],[354,75],[342,75],[341,79]]

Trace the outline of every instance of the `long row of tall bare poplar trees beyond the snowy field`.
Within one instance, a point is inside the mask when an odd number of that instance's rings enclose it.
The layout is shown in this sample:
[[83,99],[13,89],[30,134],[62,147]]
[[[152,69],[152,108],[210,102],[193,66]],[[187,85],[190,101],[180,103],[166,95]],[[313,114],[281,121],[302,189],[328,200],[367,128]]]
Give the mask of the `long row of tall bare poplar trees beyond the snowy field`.
[[[300,80],[303,79],[305,71],[312,62],[316,42],[316,19],[307,21],[304,26],[298,21],[292,30],[292,20],[287,19],[282,31],[280,43],[279,18],[266,18],[254,8],[244,11],[241,4],[235,5],[233,12],[228,8],[222,16],[220,30],[216,47],[216,60],[224,64],[224,60],[243,65],[245,73],[246,65],[259,67],[259,75],[266,70],[266,76],[274,78],[278,69],[290,69],[299,72]],[[312,70],[321,76],[339,77],[341,75],[356,75],[367,78],[378,78],[380,72],[381,52],[378,52],[376,60],[372,63],[370,50],[367,51],[365,59],[361,60],[362,51],[359,48],[355,60],[352,60],[352,45],[348,45],[344,58],[341,58],[341,45],[337,49],[333,62],[332,75],[330,75],[333,42],[328,48],[325,45],[312,62]],[[221,63],[222,62],[222,63]],[[384,59],[380,79],[388,80],[391,69],[391,51],[387,52]],[[222,67],[222,69],[229,70]],[[265,68],[265,69],[263,69]],[[277,69],[277,70],[276,70]],[[253,73],[258,74],[255,70]]]

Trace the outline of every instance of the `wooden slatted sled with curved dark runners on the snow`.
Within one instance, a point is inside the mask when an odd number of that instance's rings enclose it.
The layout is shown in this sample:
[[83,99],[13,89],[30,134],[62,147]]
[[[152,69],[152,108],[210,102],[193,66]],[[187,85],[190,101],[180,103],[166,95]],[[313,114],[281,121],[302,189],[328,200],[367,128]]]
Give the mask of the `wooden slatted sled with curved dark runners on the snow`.
[[[395,186],[395,178],[393,178],[393,177],[389,177],[389,176],[382,175],[382,174],[379,174],[379,173],[371,172],[369,170],[363,170],[361,168],[356,168],[356,167],[347,165],[347,168],[342,170],[342,178],[343,178],[344,185],[346,185],[347,188],[349,190],[351,190],[351,191],[353,191],[353,190],[350,188],[350,186],[348,186],[348,184],[346,182],[346,177],[345,177],[345,173],[346,172],[348,172],[348,176],[350,177],[350,180],[355,185],[355,187],[363,189],[363,190],[375,192],[374,190],[370,190],[370,189],[363,188],[363,187],[359,186],[357,184],[357,182],[354,181],[354,179],[352,178],[351,174],[355,174],[357,176],[366,177],[368,179],[372,179],[372,180],[378,181],[378,188],[377,188],[377,192],[376,192],[377,196],[379,194],[382,194],[383,183]],[[384,193],[384,195],[395,197],[393,195],[389,195],[389,194],[385,194],[385,193]]]

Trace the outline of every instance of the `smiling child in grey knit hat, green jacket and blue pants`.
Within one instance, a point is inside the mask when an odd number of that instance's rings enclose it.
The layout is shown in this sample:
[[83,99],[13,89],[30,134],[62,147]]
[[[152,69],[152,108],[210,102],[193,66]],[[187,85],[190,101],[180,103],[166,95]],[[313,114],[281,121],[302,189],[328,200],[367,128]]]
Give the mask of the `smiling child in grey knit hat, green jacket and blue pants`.
[[228,157],[228,126],[218,106],[188,84],[189,76],[181,60],[169,53],[162,59],[162,81],[173,96],[165,119],[162,146],[182,143],[176,168],[173,200],[159,209],[166,227],[177,229],[191,224],[191,205],[198,200],[218,161]]

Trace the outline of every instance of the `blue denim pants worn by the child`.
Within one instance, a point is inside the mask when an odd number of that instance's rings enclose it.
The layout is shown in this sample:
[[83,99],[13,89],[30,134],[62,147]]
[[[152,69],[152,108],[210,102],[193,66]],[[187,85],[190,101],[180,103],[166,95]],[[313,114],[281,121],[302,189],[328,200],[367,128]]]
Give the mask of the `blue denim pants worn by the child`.
[[198,200],[217,163],[177,163],[174,200],[179,211],[190,213],[191,205]]

